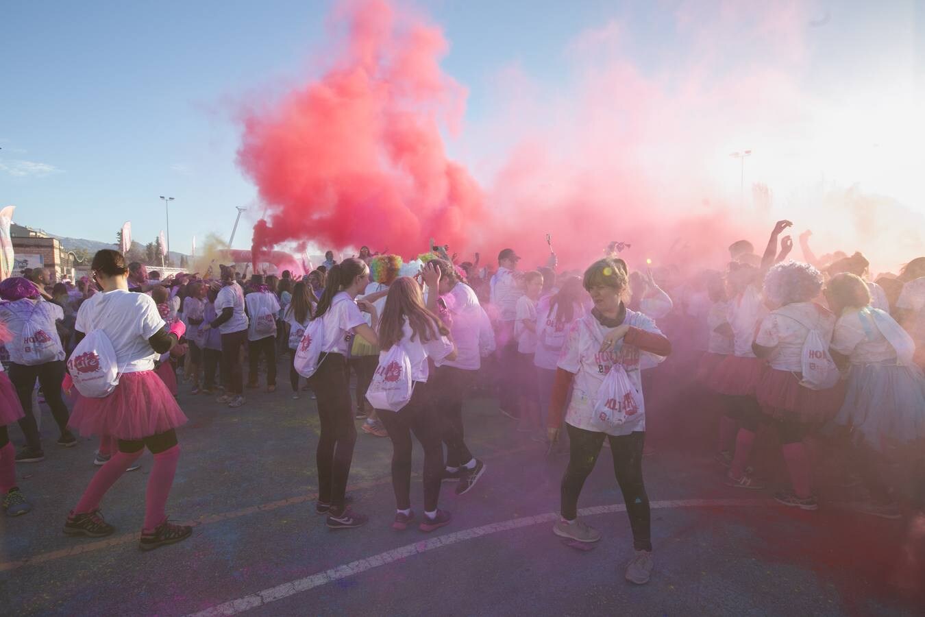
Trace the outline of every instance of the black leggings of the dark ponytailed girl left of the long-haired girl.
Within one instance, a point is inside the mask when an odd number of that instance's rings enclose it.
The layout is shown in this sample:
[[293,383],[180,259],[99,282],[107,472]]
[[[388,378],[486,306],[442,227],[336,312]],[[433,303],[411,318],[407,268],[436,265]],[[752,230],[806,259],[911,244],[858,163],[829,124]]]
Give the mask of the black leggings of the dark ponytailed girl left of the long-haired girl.
[[347,478],[353,461],[356,427],[353,426],[350,389],[344,373],[346,359],[339,353],[322,354],[321,364],[308,383],[318,399],[321,435],[315,452],[318,468],[318,500],[341,512]]

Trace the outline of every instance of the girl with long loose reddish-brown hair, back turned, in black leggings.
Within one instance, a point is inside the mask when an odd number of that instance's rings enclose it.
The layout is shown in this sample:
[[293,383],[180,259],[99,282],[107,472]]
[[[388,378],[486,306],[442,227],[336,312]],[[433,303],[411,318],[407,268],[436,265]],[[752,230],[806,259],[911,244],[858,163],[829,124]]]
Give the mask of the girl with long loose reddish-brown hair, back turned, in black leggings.
[[411,509],[412,433],[424,449],[424,517],[421,531],[430,532],[450,524],[450,512],[437,507],[443,479],[443,443],[440,416],[433,408],[434,396],[427,385],[429,362],[454,360],[456,349],[447,337],[449,328],[425,308],[421,288],[413,278],[397,278],[388,288],[382,320],[379,322],[377,371],[387,370],[382,362],[393,345],[399,345],[411,361],[413,393],[400,412],[378,410],[392,441],[392,488],[396,513],[392,528],[404,530],[413,521]]

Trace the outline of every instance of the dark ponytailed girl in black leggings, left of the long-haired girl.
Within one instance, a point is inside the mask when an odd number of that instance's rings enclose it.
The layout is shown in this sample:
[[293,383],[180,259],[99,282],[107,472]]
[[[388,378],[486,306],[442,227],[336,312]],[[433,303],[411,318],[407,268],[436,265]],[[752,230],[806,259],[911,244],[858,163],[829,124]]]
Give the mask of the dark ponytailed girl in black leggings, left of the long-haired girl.
[[[355,257],[333,265],[327,272],[327,287],[315,309],[315,319],[322,321],[324,345],[314,375],[308,383],[318,398],[318,418],[321,435],[315,462],[318,468],[318,501],[315,511],[327,514],[331,529],[349,529],[365,524],[363,514],[352,512],[345,502],[347,478],[356,443],[356,427],[350,387],[347,383],[347,354],[354,334],[374,345],[378,344],[376,307],[355,298],[369,282],[369,267]],[[372,326],[363,314],[372,316]]]

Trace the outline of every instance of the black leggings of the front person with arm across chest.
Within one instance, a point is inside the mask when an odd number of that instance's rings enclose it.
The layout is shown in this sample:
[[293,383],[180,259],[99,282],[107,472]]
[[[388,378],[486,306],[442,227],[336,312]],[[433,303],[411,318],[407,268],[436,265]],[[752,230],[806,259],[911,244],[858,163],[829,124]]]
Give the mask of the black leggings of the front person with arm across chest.
[[598,462],[600,447],[604,438],[611,442],[613,474],[623,493],[626,514],[633,528],[633,546],[636,550],[651,550],[652,539],[648,510],[648,496],[642,479],[642,450],[646,442],[643,432],[613,437],[604,433],[587,431],[570,424],[565,425],[571,440],[569,466],[562,476],[561,515],[573,521],[578,516],[578,496],[585,480]]

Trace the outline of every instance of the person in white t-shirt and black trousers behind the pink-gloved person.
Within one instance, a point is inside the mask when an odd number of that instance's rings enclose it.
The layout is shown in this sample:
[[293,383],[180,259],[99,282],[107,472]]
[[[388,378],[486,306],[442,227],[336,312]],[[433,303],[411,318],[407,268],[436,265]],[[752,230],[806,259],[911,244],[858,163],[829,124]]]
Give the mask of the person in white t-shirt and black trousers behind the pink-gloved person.
[[244,404],[244,379],[240,365],[240,349],[247,340],[248,318],[244,313],[244,291],[235,281],[233,267],[221,266],[222,289],[218,291],[215,307],[216,319],[205,322],[200,329],[217,327],[222,335],[222,375],[225,392],[216,401],[228,407]]

